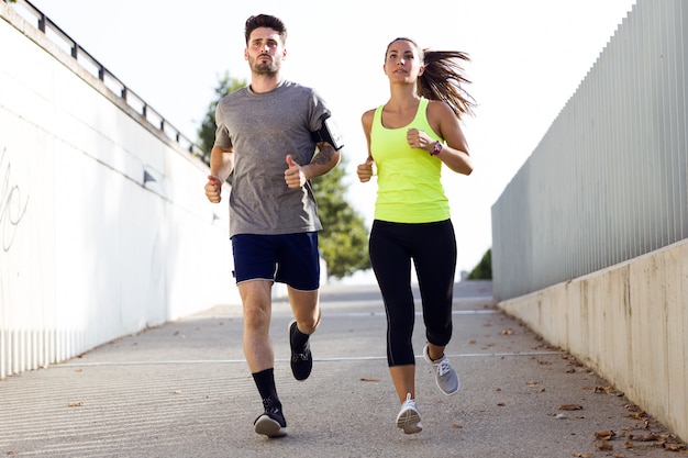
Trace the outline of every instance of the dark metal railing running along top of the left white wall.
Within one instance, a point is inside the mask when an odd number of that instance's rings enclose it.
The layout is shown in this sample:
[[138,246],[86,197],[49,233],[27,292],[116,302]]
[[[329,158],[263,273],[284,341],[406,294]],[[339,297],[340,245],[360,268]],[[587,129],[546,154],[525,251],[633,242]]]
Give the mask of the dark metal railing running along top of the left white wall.
[[178,129],[170,124],[153,107],[146,103],[146,101],[136,92],[126,87],[124,82],[122,82],[102,64],[100,64],[98,59],[91,56],[81,47],[81,45],[74,41],[30,1],[2,1],[12,5],[14,11],[16,11],[16,13],[19,13],[24,20],[29,23],[33,23],[45,34],[46,37],[48,37],[65,53],[69,54],[89,74],[101,80],[110,91],[120,97],[130,108],[141,114],[146,122],[164,133],[169,139],[176,142],[182,149],[191,153],[196,157],[202,157],[204,155],[203,149],[201,149],[200,146],[179,132]]

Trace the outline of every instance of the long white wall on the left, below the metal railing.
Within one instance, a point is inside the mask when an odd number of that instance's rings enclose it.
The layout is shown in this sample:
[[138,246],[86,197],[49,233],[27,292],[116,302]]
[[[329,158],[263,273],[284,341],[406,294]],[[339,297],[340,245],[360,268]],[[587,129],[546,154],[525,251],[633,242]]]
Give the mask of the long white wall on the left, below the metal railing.
[[238,303],[208,168],[4,2],[0,43],[0,378]]

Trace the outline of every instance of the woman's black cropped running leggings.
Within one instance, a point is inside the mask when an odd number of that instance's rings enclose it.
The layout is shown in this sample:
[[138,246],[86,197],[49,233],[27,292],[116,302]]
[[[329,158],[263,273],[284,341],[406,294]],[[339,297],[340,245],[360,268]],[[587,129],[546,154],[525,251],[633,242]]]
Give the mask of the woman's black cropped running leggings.
[[387,313],[387,364],[414,365],[411,259],[421,292],[425,337],[433,345],[444,346],[452,338],[454,226],[451,220],[423,224],[375,220],[368,248]]

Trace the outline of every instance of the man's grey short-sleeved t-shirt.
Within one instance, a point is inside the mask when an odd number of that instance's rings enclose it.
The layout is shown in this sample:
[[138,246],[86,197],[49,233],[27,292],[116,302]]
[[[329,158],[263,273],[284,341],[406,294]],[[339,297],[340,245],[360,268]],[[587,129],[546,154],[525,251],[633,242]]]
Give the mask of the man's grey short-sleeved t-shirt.
[[311,88],[281,81],[270,92],[249,87],[222,98],[215,110],[215,145],[234,150],[230,192],[230,237],[321,231],[311,182],[289,189],[287,155],[311,161],[321,116],[329,113]]

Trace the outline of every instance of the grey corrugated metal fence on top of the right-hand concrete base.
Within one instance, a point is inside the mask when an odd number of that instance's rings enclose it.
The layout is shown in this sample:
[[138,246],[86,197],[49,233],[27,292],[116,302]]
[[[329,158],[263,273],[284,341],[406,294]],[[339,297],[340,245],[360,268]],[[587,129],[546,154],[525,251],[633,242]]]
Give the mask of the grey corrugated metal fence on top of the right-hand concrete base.
[[496,299],[688,237],[687,70],[688,2],[639,0],[492,206]]

